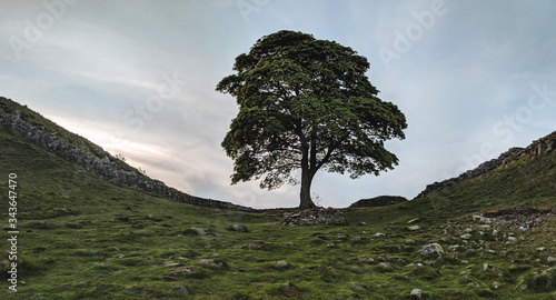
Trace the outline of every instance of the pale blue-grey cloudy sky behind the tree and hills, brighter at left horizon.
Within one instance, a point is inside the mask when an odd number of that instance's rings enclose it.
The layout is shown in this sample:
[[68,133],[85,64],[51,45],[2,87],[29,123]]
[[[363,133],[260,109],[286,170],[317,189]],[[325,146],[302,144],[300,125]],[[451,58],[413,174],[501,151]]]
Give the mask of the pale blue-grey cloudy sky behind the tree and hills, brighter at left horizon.
[[325,207],[409,199],[556,130],[554,1],[0,2],[0,94],[185,192],[256,208],[299,204],[299,186],[230,186],[220,142],[237,114],[215,91],[234,59],[278,30],[368,58],[370,82],[406,114],[379,177],[318,173]]

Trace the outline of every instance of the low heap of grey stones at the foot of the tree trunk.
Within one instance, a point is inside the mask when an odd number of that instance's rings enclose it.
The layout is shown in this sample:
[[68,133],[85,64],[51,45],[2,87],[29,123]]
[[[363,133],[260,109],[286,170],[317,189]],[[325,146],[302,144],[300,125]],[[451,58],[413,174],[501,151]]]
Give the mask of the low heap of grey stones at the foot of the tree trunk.
[[285,226],[347,224],[346,213],[340,209],[316,208],[284,213]]

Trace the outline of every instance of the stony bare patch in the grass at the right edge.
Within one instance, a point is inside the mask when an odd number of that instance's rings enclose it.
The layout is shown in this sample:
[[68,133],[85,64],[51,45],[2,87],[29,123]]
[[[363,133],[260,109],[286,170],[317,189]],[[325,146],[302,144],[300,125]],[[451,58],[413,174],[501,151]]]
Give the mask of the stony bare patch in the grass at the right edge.
[[542,226],[556,216],[556,209],[550,208],[509,208],[490,211],[483,214],[494,224],[505,229],[532,229]]

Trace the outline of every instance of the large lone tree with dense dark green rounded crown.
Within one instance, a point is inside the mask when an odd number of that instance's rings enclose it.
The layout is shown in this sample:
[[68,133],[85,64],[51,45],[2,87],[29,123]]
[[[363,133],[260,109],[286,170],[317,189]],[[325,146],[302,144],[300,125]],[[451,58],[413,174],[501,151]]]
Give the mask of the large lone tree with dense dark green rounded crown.
[[271,190],[298,183],[292,171],[301,169],[299,208],[307,209],[320,169],[353,179],[394,169],[398,159],[384,142],[405,138],[406,118],[377,97],[369,67],[349,47],[295,31],[265,36],[238,56],[237,73],[216,89],[239,106],[221,143],[235,160],[231,183],[265,176],[260,188]]

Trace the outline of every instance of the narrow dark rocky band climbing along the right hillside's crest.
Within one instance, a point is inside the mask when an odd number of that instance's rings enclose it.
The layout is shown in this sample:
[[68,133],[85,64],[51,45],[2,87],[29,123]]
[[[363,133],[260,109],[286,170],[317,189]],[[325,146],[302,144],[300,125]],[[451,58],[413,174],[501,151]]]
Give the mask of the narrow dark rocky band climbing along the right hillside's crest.
[[485,161],[481,164],[479,164],[477,168],[475,168],[473,170],[468,170],[456,178],[450,178],[450,179],[443,180],[440,182],[435,182],[433,184],[428,184],[424,191],[421,191],[419,194],[417,194],[417,197],[414,198],[414,200],[429,196],[433,192],[444,190],[446,188],[459,184],[464,181],[474,179],[474,178],[479,177],[488,171],[492,171],[492,170],[500,167],[505,161],[513,160],[514,158],[516,158],[522,152],[522,150],[524,150],[524,149],[519,148],[519,147],[512,148],[508,151],[502,153],[498,158],[492,159],[489,161]]

